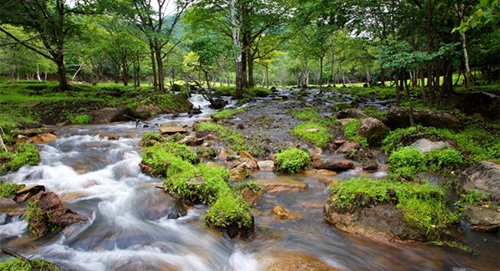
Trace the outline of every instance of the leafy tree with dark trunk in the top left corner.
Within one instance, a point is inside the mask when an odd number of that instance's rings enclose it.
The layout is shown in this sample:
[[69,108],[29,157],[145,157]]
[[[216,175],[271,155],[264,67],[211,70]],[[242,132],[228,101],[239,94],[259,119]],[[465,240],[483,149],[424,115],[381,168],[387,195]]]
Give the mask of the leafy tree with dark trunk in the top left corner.
[[[79,2],[69,0],[0,0],[0,31],[29,50],[53,61],[57,66],[59,90],[70,87],[64,63],[65,45],[79,31],[77,14],[82,13]],[[6,27],[19,26],[29,33],[23,39]],[[40,42],[43,46],[38,46]]]

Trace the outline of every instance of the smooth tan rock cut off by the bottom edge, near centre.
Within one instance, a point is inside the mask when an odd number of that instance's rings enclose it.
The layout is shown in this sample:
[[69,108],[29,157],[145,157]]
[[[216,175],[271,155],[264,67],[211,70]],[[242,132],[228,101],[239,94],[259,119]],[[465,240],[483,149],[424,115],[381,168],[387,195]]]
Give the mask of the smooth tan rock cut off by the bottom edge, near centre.
[[269,255],[274,258],[267,271],[340,271],[322,260],[299,252],[280,252]]

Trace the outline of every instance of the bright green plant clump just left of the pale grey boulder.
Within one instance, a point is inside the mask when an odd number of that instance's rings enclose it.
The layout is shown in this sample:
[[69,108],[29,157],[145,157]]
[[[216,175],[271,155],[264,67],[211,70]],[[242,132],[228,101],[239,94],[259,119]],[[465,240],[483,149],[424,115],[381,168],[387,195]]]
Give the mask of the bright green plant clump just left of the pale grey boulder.
[[389,156],[390,175],[395,179],[415,179],[417,173],[426,169],[425,165],[425,155],[413,147],[400,148]]

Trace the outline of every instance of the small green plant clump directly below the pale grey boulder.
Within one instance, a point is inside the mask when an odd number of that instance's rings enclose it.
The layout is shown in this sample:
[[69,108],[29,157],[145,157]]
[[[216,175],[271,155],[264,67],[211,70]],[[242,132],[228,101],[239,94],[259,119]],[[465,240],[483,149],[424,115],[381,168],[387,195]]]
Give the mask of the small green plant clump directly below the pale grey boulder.
[[463,165],[462,154],[454,149],[434,149],[427,154],[427,164],[432,171],[456,169]]

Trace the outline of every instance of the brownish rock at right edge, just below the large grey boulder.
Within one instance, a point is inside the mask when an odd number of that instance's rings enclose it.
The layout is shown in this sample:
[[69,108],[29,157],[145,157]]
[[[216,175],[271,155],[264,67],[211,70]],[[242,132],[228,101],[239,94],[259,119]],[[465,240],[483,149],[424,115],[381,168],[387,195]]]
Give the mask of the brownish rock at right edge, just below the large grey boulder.
[[486,208],[481,204],[466,205],[465,218],[471,224],[472,230],[495,232],[500,229],[500,212],[496,209]]

